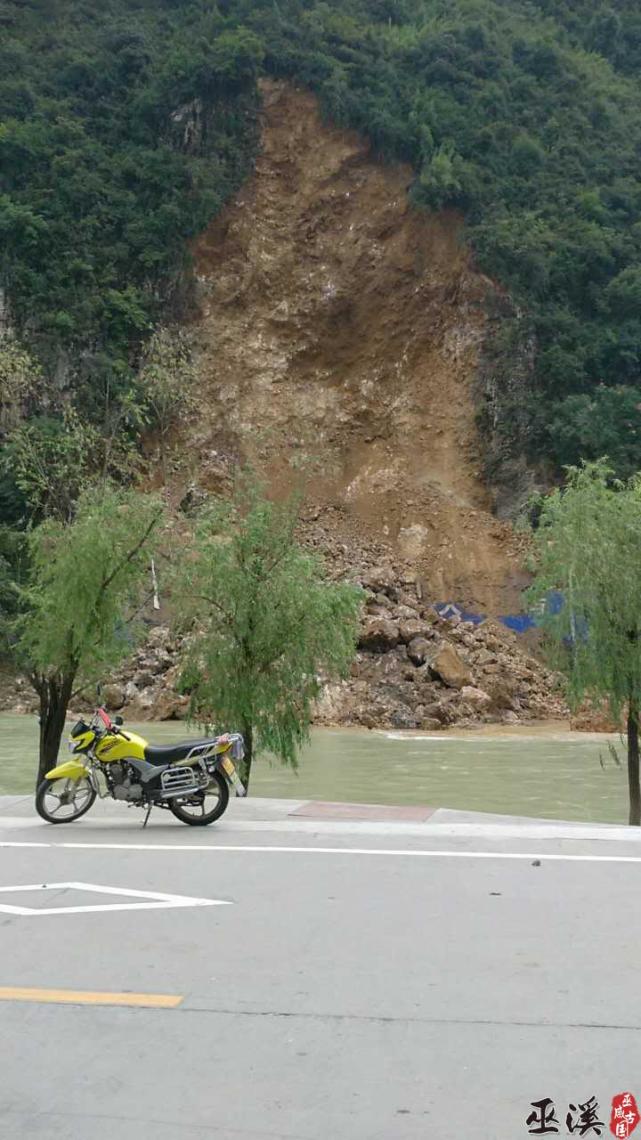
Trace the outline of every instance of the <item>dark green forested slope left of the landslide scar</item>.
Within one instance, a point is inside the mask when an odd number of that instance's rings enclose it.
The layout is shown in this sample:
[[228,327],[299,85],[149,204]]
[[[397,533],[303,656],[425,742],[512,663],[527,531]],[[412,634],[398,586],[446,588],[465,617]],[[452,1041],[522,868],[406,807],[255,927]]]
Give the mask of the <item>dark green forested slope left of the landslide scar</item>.
[[26,435],[7,445],[16,417],[0,421],[3,518],[58,510],[15,454],[70,458],[78,423],[105,440],[87,440],[94,471],[122,474],[141,345],[180,314],[189,239],[250,170],[260,60],[204,3],[0,0],[0,286],[46,374]]

